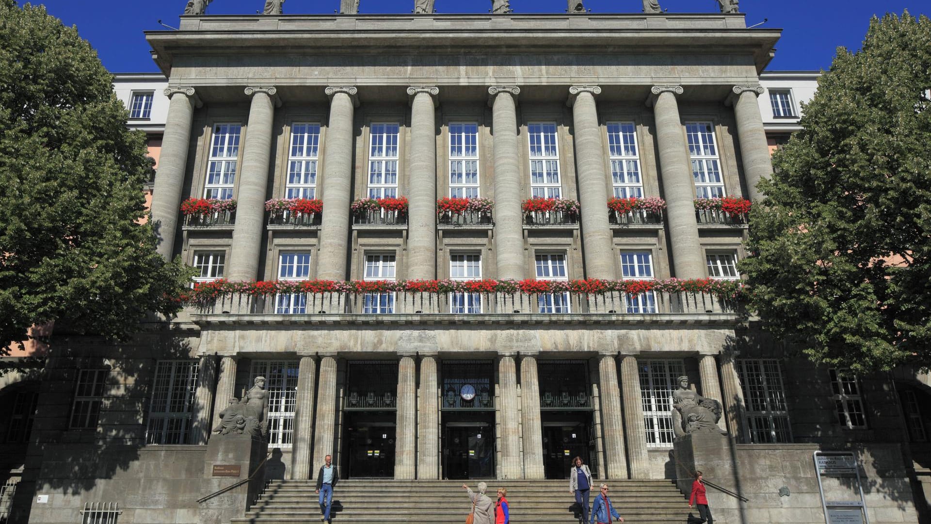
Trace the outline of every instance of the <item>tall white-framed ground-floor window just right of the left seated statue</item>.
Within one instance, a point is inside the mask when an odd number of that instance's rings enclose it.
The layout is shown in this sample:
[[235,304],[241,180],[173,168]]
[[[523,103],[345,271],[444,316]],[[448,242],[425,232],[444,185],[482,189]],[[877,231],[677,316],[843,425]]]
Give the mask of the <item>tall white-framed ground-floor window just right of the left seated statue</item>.
[[250,365],[249,383],[265,378],[268,398],[268,446],[290,448],[297,405],[298,363],[292,360],[258,360]]

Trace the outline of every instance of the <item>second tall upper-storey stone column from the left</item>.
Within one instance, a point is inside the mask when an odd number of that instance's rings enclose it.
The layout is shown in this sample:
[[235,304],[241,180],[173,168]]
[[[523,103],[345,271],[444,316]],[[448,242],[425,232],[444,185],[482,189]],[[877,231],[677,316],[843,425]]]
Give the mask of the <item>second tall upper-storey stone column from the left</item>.
[[239,171],[236,226],[233,228],[233,245],[226,272],[226,277],[231,281],[254,281],[259,278],[276,92],[274,87],[246,88],[246,95],[252,97],[252,105],[243,145],[242,169]]

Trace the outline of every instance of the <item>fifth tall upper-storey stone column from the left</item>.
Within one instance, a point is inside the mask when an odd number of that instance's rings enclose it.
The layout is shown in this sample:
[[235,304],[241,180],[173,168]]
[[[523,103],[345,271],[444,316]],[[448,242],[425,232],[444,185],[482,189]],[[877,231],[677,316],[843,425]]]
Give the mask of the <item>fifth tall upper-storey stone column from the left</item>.
[[516,86],[488,88],[494,139],[494,249],[498,279],[524,278]]

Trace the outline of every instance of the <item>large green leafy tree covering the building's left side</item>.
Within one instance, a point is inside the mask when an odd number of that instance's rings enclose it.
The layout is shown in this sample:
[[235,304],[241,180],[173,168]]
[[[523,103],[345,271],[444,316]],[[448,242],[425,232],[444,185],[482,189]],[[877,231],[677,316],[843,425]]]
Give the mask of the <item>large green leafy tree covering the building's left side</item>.
[[0,354],[33,324],[125,339],[188,272],[155,253],[142,132],[111,76],[45,7],[0,0]]

